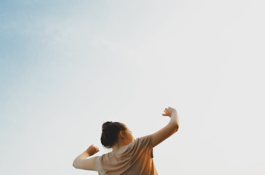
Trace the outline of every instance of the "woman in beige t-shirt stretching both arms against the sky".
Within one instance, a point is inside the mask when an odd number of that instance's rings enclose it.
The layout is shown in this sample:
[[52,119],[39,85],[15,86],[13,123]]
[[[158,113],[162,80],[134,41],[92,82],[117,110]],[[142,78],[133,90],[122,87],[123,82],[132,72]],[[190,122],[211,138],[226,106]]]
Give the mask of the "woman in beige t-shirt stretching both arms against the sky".
[[102,125],[101,143],[112,152],[87,159],[99,152],[91,145],[74,159],[73,166],[78,169],[97,171],[100,175],[117,174],[157,174],[153,162],[153,148],[173,135],[179,128],[178,112],[165,108],[163,116],[169,116],[169,123],[156,133],[134,139],[127,126],[119,122],[105,122]]

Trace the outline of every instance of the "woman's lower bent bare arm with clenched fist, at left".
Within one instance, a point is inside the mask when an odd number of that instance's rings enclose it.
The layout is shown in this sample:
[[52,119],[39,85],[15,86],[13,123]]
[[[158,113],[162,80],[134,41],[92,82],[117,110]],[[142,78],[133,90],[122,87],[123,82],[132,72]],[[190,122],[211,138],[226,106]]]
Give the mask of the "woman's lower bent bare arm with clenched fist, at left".
[[87,159],[87,157],[94,155],[97,152],[99,152],[98,147],[94,145],[89,146],[86,151],[84,151],[82,154],[78,155],[76,159],[74,159],[73,167],[77,169],[98,171],[96,168],[96,158],[98,156]]

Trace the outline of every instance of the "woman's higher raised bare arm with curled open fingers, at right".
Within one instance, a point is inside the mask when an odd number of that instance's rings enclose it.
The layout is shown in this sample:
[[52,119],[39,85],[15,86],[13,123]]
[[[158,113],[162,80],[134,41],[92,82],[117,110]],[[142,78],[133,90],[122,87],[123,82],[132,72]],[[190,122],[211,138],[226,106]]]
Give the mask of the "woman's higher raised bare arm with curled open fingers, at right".
[[165,113],[163,113],[163,116],[169,116],[170,121],[169,123],[160,129],[159,131],[152,134],[152,147],[154,148],[156,145],[160,144],[162,141],[169,138],[171,135],[173,135],[175,132],[179,129],[179,115],[178,112],[171,107],[168,107],[164,110]]

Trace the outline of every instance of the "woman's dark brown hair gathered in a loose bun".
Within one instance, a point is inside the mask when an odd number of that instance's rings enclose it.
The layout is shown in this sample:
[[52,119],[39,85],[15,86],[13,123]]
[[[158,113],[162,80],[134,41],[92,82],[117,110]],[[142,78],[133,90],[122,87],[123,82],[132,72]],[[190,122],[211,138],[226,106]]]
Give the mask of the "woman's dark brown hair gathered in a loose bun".
[[125,131],[126,126],[120,122],[107,121],[102,125],[101,144],[105,148],[112,148],[118,140],[120,131]]

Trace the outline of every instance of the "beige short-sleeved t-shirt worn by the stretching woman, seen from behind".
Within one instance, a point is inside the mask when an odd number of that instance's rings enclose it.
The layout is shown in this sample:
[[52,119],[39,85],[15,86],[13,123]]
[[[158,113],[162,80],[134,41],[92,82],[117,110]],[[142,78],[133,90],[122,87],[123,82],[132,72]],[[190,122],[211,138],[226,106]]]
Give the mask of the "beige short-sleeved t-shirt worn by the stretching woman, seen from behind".
[[137,138],[124,153],[109,152],[96,159],[99,175],[157,175],[152,135]]

